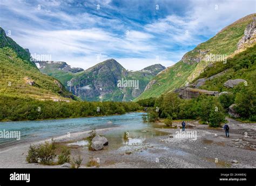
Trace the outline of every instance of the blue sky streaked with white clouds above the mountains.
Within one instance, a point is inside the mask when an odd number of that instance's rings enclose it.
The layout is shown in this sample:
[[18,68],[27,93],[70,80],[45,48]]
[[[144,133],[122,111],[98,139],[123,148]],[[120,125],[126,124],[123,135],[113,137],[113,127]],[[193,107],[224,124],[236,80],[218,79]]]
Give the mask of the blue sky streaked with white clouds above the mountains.
[[255,0],[0,0],[0,26],[31,54],[89,68],[171,66],[223,27],[256,12]]

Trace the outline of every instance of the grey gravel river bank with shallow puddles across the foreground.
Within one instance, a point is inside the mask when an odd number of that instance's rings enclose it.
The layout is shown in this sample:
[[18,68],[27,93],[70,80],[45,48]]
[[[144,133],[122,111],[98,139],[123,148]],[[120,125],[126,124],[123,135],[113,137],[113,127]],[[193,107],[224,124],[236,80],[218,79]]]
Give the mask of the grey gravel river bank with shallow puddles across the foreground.
[[[80,143],[90,130],[61,135],[54,140],[69,146],[71,156],[83,158],[81,168],[87,168],[91,157],[99,160],[100,168],[256,168],[256,124],[228,121],[230,137],[221,128],[190,121],[185,131],[196,133],[196,138],[177,137],[179,123],[168,128],[156,123],[154,127],[131,129],[129,141],[123,139],[123,131],[127,129],[124,126],[97,129],[98,134],[109,140],[109,146],[100,151],[91,151]],[[0,168],[62,168],[62,165],[44,166],[25,161],[29,145],[44,141],[1,148]]]

